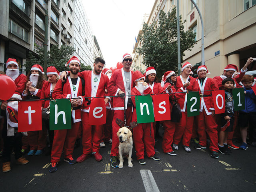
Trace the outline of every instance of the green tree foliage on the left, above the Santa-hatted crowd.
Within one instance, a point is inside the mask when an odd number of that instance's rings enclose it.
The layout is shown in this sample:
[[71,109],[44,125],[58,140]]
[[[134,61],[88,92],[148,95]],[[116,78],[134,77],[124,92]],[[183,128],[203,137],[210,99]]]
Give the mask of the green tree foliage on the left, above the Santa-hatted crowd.
[[[75,49],[71,46],[60,46],[58,48],[57,45],[53,45],[48,51],[47,56],[47,67],[54,66],[58,71],[68,70],[68,67],[65,67],[65,64],[68,62],[72,54],[74,53]],[[40,64],[43,66],[44,64],[44,48],[38,48],[36,50],[38,56],[35,56],[32,52],[28,53],[28,60],[26,61],[26,73],[28,73],[31,67],[34,64]],[[85,66],[81,63],[81,71],[84,70],[92,70],[91,66]],[[46,74],[46,72],[45,72]]]

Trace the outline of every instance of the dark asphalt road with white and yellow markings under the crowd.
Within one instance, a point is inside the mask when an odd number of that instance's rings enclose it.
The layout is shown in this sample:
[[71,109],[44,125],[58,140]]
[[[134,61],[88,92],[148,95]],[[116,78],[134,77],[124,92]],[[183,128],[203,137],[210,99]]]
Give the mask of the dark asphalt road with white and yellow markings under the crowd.
[[[232,150],[230,156],[219,154],[220,158],[213,159],[208,148],[192,148],[187,153],[181,144],[178,155],[169,156],[162,152],[161,143],[162,140],[156,142],[160,161],[146,157],[146,165],[140,165],[133,150],[133,168],[128,167],[126,159],[122,169],[110,166],[110,144],[100,150],[101,162],[93,156],[74,165],[61,160],[54,173],[48,171],[50,156],[26,156],[30,162],[17,165],[12,155],[12,170],[0,172],[0,191],[256,191],[256,148]],[[75,149],[74,158],[81,152],[81,146]]]

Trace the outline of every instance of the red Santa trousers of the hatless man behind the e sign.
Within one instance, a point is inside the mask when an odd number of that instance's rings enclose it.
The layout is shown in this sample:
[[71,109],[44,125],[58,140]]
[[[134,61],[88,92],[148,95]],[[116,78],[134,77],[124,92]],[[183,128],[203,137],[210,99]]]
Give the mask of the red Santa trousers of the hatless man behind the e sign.
[[92,152],[100,151],[100,142],[102,138],[102,128],[104,125],[90,125],[89,113],[82,112],[83,124],[83,154],[89,155]]

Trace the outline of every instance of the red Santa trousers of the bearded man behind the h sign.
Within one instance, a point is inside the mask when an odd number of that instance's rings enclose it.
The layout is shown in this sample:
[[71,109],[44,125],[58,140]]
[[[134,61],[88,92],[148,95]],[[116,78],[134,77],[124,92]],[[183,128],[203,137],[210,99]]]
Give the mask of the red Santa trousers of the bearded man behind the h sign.
[[54,131],[51,155],[52,163],[57,163],[60,161],[62,150],[64,151],[64,158],[70,158],[73,156],[74,145],[76,142],[80,124],[81,122],[72,122],[71,129],[62,129]]

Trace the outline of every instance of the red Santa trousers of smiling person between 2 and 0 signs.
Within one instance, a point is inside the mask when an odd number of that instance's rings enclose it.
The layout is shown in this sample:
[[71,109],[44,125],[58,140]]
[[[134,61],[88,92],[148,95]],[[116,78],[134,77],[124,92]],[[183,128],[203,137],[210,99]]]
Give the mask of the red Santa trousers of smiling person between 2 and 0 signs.
[[198,136],[199,136],[199,144],[202,146],[206,146],[206,132],[210,138],[210,150],[217,151],[218,148],[218,131],[216,121],[212,115],[207,115],[205,110],[199,112],[199,116],[196,116],[198,121]]

